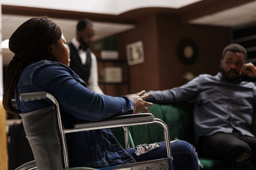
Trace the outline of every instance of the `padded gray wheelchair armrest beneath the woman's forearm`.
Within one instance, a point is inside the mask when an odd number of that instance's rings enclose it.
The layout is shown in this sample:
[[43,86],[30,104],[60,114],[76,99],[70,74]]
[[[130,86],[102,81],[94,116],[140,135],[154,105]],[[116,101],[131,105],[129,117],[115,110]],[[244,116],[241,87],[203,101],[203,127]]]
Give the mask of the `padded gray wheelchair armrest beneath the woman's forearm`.
[[139,113],[132,115],[121,115],[117,117],[107,118],[99,122],[81,122],[74,125],[75,128],[88,128],[88,127],[99,127],[106,125],[118,125],[118,124],[131,124],[131,123],[142,123],[151,122],[154,120],[152,113]]

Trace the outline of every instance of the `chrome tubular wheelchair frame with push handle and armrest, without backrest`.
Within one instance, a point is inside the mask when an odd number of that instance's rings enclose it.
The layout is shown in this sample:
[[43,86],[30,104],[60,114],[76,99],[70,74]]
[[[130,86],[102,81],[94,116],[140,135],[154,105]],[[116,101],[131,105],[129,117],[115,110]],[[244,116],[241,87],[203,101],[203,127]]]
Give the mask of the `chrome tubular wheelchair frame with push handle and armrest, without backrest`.
[[111,117],[111,118],[107,118],[106,120],[99,121],[100,123],[90,122],[90,123],[84,123],[84,124],[76,124],[74,125],[73,129],[63,129],[63,125],[61,122],[61,115],[60,115],[60,106],[58,104],[58,101],[54,98],[54,96],[46,92],[33,92],[33,93],[20,94],[20,101],[35,101],[40,99],[50,99],[52,103],[54,103],[56,106],[58,127],[60,130],[60,136],[62,141],[61,143],[63,148],[63,159],[64,159],[65,168],[69,167],[65,134],[72,133],[72,132],[92,131],[92,130],[98,130],[98,129],[110,129],[114,127],[124,127],[125,145],[127,147],[129,146],[129,141],[128,141],[129,130],[127,127],[133,126],[133,125],[155,123],[163,127],[164,141],[166,144],[166,152],[167,152],[168,158],[170,158],[171,167],[173,169],[173,157],[172,157],[171,146],[170,146],[170,134],[168,131],[168,126],[163,122],[163,120],[160,120],[159,118],[155,118],[154,115],[152,115],[151,113],[121,115],[118,117]]

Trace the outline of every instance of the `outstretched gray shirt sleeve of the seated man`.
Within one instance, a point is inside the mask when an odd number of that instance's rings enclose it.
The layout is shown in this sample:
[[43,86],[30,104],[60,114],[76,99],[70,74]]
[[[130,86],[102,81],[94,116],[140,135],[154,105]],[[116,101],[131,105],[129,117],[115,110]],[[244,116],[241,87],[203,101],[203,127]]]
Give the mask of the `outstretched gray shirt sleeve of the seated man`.
[[200,76],[185,85],[168,90],[149,91],[152,93],[147,101],[152,103],[170,104],[182,103],[195,99],[200,90]]

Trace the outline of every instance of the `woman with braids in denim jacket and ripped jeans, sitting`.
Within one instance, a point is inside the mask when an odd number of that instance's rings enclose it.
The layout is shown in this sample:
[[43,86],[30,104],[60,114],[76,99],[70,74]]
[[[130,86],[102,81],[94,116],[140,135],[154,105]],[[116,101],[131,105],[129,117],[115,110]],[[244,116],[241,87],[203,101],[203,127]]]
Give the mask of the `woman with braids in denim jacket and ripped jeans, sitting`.
[[[69,52],[60,27],[47,17],[27,20],[13,32],[9,48],[15,54],[4,81],[3,104],[10,113],[26,114],[51,105],[51,101],[21,102],[20,94],[45,91],[60,104],[65,128],[79,120],[99,121],[114,115],[147,112],[152,103],[145,91],[122,97],[95,94],[86,88],[69,66]],[[17,109],[12,106],[15,97]],[[109,129],[67,134],[70,167],[106,167],[167,157],[164,143],[140,145],[125,150]],[[193,146],[186,141],[171,143],[175,170],[199,169]]]

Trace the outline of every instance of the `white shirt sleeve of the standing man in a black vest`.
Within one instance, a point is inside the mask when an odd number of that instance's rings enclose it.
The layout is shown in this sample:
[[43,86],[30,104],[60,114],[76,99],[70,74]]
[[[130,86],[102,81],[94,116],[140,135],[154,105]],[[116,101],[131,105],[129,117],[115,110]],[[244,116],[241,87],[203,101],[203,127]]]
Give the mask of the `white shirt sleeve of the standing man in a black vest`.
[[97,94],[104,94],[99,87],[98,83],[98,68],[97,68],[97,59],[94,53],[91,52],[92,57],[92,65],[91,65],[91,72],[88,79],[88,89],[92,90]]

